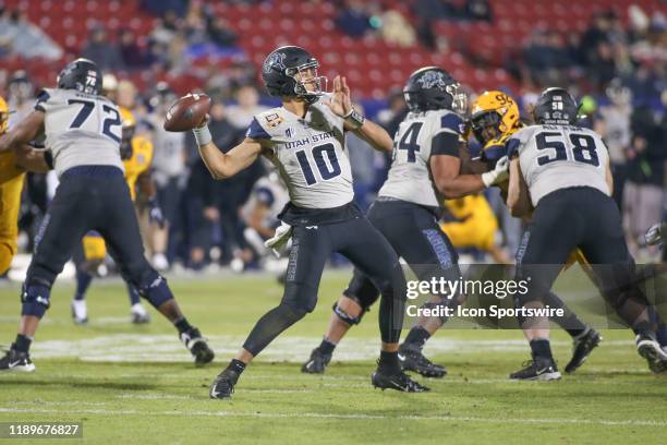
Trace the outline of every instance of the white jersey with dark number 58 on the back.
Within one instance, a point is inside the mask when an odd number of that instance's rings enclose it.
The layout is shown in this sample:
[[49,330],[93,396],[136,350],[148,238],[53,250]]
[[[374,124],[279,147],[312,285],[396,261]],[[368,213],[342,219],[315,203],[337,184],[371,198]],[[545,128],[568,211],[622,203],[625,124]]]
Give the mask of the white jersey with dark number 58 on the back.
[[606,173],[609,154],[599,135],[571,125],[531,125],[514,133],[508,154],[519,165],[533,206],[547,194],[572,187],[591,187],[610,195]]

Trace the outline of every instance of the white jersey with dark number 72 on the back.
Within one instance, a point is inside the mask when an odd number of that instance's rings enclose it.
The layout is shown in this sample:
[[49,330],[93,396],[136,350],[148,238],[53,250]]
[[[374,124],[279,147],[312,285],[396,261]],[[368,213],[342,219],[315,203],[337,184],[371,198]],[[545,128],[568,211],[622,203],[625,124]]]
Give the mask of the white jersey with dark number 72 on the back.
[[111,100],[75,89],[46,88],[35,109],[45,112],[45,145],[58,176],[77,166],[123,170],[121,117]]

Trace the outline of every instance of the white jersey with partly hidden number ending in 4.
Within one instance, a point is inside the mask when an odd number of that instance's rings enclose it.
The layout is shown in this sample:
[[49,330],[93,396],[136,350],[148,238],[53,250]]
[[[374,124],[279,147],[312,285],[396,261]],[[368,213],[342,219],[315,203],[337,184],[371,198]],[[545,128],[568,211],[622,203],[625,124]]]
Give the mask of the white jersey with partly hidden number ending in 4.
[[463,119],[448,110],[411,112],[393,139],[393,160],[378,196],[439,207],[442,200],[430,179],[432,155],[458,155]]

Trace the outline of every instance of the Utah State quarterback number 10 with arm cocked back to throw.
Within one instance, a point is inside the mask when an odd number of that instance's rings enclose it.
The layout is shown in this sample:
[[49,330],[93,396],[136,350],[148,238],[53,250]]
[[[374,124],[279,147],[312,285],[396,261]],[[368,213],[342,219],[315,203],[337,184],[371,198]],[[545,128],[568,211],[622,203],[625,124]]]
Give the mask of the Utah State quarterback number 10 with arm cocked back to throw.
[[303,48],[280,47],[267,56],[262,76],[282,107],[256,115],[246,139],[230,151],[222,152],[211,142],[205,123],[194,130],[214,178],[234,176],[263,155],[276,165],[290,192],[290,203],[280,215],[283,225],[268,242],[276,248],[292,238],[282,300],[259,318],[243,348],[215,378],[211,398],[230,397],[251,360],[315,309],[331,252],[347,256],[381,291],[381,350],[373,385],[410,393],[427,389],[402,372],[398,359],[407,290],[398,256],[352,201],[344,132],[352,131],[385,152],[392,149],[391,137],[352,108],[345,77],[337,76],[332,94],[325,93],[326,77],[318,75],[318,68],[317,59]]

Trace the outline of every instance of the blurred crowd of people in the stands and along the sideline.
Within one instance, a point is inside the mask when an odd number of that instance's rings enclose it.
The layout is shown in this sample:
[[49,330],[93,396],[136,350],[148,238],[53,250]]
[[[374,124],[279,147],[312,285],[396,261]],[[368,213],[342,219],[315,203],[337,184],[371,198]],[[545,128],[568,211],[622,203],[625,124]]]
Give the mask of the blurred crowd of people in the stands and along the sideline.
[[[333,3],[341,36],[374,35],[400,46],[419,45],[433,51],[448,51],[452,45],[437,35],[435,22],[496,20],[494,2],[484,0],[417,0],[407,3],[408,14],[383,1]],[[258,86],[257,67],[238,45],[234,27],[209,4],[198,0],[144,0],[141,7],[155,16],[147,38],[138,38],[130,27],[112,32],[105,23],[92,23],[81,56],[107,72],[106,94],[134,112],[137,132],[148,136],[155,146],[153,178],[168,225],[163,229],[146,225],[153,263],[160,269],[174,263],[192,269],[211,263],[232,263],[239,269],[256,267],[263,252],[258,252],[247,229],[262,231],[256,221],[257,208],[270,208],[278,200],[264,196],[265,187],[258,182],[268,181],[272,167],[257,161],[230,180],[214,181],[196,154],[193,136],[162,130],[167,109],[181,92],[168,82],[135,83],[132,73],[187,74],[195,70],[191,65],[193,57],[229,57],[231,62],[222,70],[217,65],[196,67],[206,73],[202,89],[214,98],[209,127],[219,147],[231,148],[241,141],[253,115],[275,101]],[[629,7],[627,17],[622,21],[618,9],[611,8],[596,12],[582,33],[536,27],[500,63],[511,74],[513,85],[519,85],[508,93],[521,105],[524,118],[536,94],[547,85],[567,86],[580,98],[581,112],[585,115],[582,124],[601,133],[609,147],[614,197],[623,212],[628,240],[638,260],[648,261],[657,257],[657,252],[644,246],[642,237],[646,228],[665,218],[667,202],[667,19],[664,11],[643,11],[635,4]],[[0,95],[15,111],[10,125],[31,109],[37,87],[49,85],[35,85],[28,71],[3,70],[2,60],[12,55],[61,59],[65,49],[48,32],[17,10],[0,9]],[[474,52],[475,48],[470,48],[464,56],[474,60]],[[484,68],[485,61],[475,63]],[[340,69],[344,73],[344,67]],[[459,81],[466,84],[465,79]],[[354,94],[354,84],[351,86]],[[357,108],[365,108],[366,115],[393,134],[407,113],[400,83],[387,79],[381,86],[387,92],[385,100],[355,99]],[[487,89],[505,87],[487,85]],[[381,185],[390,163],[365,145],[354,137],[349,141],[356,200],[362,207]],[[25,251],[32,248],[56,182],[51,176],[38,173],[31,173],[27,180],[20,220]],[[270,181],[276,182],[272,177]],[[487,199],[500,222],[501,245],[512,254],[521,224],[507,214],[499,195]],[[145,203],[143,207],[147,211]]]

